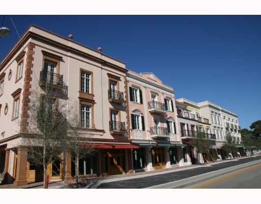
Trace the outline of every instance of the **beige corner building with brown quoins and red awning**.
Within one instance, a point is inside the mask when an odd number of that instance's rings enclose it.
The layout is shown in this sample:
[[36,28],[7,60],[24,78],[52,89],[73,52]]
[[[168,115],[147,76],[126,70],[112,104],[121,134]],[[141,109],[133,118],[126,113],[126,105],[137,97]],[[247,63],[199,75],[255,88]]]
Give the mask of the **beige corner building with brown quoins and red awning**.
[[[5,182],[22,185],[36,181],[41,167],[30,165],[22,139],[30,134],[32,92],[45,94],[46,84],[61,91],[55,100],[79,107],[83,141],[91,141],[96,155],[80,160],[80,173],[111,175],[132,168],[127,129],[125,64],[57,34],[31,25],[0,64],[0,170]],[[61,97],[60,97],[61,96]],[[31,101],[31,102],[30,102]],[[69,152],[65,158],[70,158]],[[50,179],[70,178],[69,159],[50,164]],[[61,165],[61,164],[65,165]],[[119,168],[120,167],[120,168]],[[52,172],[55,171],[56,175]]]

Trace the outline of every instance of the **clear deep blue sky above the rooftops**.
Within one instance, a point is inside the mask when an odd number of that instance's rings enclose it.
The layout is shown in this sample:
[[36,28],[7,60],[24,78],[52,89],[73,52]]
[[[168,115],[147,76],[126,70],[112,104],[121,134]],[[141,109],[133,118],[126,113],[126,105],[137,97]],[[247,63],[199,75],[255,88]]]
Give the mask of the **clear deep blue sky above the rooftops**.
[[[154,72],[176,98],[210,100],[239,115],[242,127],[261,119],[261,16],[17,16],[0,38],[0,59],[30,24]],[[3,15],[0,16],[2,23]]]

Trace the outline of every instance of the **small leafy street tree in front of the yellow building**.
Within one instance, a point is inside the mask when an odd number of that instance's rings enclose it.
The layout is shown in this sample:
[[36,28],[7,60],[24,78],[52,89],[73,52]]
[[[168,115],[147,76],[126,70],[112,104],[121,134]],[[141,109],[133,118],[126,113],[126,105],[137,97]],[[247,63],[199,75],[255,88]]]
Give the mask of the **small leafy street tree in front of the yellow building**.
[[[203,152],[208,151],[210,148],[210,141],[205,133],[198,131],[195,138],[192,139],[192,146],[196,148],[197,154],[202,157]],[[203,158],[201,158],[201,165],[203,165]]]

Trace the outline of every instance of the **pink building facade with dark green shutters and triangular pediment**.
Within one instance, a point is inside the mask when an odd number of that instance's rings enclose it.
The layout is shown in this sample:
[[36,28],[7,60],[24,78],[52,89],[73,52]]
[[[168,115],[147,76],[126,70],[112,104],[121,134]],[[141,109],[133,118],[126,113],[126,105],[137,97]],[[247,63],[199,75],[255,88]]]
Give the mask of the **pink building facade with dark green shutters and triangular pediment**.
[[153,170],[183,165],[177,134],[174,90],[153,73],[127,72],[128,109],[134,170]]

